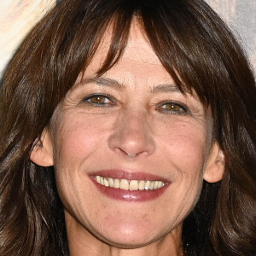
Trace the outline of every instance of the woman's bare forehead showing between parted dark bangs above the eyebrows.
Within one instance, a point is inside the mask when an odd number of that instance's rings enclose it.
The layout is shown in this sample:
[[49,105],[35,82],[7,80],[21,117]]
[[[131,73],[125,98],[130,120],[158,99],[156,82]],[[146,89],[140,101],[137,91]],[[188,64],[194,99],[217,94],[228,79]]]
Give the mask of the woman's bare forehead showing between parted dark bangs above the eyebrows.
[[[96,76],[102,64],[106,61],[109,49],[112,47],[112,31],[113,28],[108,26],[108,30],[104,33],[102,42],[96,49],[89,66],[86,67],[83,74],[79,75],[76,84],[79,84],[83,79],[91,79]],[[150,86],[154,86],[154,84],[174,84],[172,76],[161,64],[142,25],[137,20],[131,22],[129,37],[121,58],[103,76],[117,79],[120,84],[147,84]],[[183,90],[188,92],[185,87],[183,86]]]

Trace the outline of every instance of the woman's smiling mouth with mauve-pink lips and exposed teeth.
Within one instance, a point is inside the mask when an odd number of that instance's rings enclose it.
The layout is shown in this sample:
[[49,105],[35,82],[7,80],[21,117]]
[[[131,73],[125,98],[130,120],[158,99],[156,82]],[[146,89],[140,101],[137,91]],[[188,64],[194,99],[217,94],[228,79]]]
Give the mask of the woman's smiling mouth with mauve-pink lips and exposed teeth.
[[156,200],[172,184],[165,177],[123,169],[101,170],[90,173],[89,177],[102,195],[129,202]]

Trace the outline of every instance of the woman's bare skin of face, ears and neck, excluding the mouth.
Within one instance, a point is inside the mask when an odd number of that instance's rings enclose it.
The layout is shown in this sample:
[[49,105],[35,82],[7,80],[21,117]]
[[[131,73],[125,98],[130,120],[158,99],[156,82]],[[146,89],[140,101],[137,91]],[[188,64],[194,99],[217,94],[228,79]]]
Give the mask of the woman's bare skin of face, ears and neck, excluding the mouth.
[[[212,143],[211,113],[196,96],[177,90],[135,22],[121,60],[100,82],[91,80],[109,35],[31,158],[55,166],[71,255],[182,255],[183,219],[203,179],[217,182],[224,171],[223,154]],[[92,94],[108,97],[96,104]],[[157,174],[171,184],[152,201],[116,201],[90,179],[113,168]]]

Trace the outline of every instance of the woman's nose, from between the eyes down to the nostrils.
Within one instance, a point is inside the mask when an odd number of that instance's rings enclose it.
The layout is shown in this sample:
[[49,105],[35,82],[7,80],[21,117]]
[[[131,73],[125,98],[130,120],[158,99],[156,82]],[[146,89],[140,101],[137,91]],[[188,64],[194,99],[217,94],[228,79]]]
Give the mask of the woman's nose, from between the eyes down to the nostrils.
[[109,148],[129,158],[154,153],[153,132],[148,124],[147,112],[125,111],[114,123],[108,139]]

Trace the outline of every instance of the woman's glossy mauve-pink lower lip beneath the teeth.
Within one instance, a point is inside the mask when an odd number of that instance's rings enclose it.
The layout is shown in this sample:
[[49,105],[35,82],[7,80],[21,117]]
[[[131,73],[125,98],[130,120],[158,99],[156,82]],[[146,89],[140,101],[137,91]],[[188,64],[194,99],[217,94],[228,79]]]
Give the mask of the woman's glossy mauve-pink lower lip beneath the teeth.
[[131,201],[131,202],[154,200],[160,197],[160,195],[163,195],[163,193],[166,191],[167,187],[169,186],[169,184],[166,184],[164,187],[160,189],[131,191],[131,190],[125,190],[125,189],[114,189],[114,188],[103,186],[102,184],[97,183],[94,177],[91,177],[91,180],[93,181],[93,183],[95,183],[96,188],[99,189],[103,195],[106,195],[115,200]]

